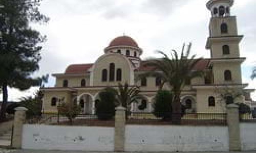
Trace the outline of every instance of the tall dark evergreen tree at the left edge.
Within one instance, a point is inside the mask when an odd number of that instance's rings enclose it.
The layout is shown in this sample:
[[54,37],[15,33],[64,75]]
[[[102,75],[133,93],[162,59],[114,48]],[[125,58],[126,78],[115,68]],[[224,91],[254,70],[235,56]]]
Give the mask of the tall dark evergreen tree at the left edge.
[[38,86],[46,77],[32,78],[41,59],[39,43],[46,40],[29,23],[47,23],[49,18],[38,11],[41,0],[1,0],[0,5],[0,86],[3,104],[0,120],[5,118],[8,86],[20,90]]

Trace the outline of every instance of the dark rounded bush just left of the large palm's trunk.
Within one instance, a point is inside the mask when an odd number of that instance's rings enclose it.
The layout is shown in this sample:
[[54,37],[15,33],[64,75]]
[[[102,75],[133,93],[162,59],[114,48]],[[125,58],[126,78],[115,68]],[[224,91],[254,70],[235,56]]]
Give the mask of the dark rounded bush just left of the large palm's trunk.
[[168,120],[172,118],[172,99],[173,95],[168,90],[159,90],[156,94],[154,112],[157,118]]

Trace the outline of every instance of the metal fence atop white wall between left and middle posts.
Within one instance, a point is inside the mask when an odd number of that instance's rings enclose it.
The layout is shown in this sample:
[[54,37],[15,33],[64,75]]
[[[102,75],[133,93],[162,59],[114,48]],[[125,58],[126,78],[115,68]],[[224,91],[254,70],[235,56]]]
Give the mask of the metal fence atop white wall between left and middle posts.
[[113,114],[78,114],[70,120],[66,116],[59,114],[42,114],[40,117],[27,120],[28,124],[47,124],[47,125],[74,125],[74,126],[107,126],[114,127]]

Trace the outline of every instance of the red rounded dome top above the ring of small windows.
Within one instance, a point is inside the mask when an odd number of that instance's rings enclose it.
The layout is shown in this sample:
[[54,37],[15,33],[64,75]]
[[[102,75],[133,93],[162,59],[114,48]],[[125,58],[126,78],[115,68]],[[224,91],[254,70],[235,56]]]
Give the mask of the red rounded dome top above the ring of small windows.
[[113,46],[133,46],[139,47],[138,43],[130,36],[118,36],[114,38],[108,47]]

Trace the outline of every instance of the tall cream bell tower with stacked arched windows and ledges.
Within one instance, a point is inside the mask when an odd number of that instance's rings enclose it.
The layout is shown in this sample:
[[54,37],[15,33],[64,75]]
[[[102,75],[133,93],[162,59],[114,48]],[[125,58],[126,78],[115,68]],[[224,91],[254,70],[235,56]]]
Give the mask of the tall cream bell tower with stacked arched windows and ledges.
[[233,0],[209,0],[211,13],[206,49],[210,50],[214,84],[241,84],[241,63],[236,16],[231,15]]

